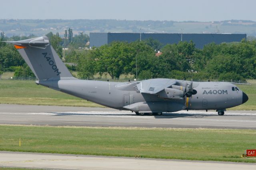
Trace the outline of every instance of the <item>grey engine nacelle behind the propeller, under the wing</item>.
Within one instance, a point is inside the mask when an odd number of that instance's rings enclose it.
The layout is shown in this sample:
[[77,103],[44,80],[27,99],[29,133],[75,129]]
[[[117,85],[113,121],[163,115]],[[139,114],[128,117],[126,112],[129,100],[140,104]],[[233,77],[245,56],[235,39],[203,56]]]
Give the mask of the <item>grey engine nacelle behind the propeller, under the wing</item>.
[[158,93],[160,98],[164,99],[180,99],[184,96],[184,92],[178,89],[164,88],[163,91]]

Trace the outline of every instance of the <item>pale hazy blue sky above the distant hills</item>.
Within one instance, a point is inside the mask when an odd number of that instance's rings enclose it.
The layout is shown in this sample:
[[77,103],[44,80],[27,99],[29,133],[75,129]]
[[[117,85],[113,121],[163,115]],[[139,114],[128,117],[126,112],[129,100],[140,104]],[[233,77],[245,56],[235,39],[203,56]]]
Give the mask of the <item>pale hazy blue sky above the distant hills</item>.
[[0,19],[256,21],[256,0],[0,0]]

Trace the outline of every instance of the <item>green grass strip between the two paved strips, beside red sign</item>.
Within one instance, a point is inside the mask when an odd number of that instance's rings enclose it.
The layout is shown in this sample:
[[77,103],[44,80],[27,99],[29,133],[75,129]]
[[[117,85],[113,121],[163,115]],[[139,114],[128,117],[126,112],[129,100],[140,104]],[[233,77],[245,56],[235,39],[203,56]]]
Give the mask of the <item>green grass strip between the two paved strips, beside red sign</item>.
[[255,130],[1,125],[0,136],[8,151],[256,162],[241,158],[255,148]]

